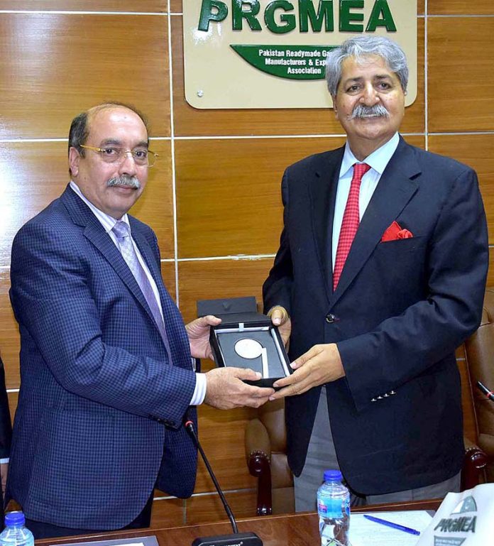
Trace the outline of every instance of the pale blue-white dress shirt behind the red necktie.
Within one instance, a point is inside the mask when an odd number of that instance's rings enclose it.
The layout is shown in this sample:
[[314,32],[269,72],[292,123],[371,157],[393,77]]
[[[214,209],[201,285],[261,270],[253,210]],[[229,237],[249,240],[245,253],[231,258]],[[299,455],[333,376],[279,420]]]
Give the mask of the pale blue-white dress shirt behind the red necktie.
[[367,163],[367,165],[370,166],[370,169],[362,177],[360,194],[358,196],[358,212],[360,214],[360,219],[362,219],[363,213],[366,212],[366,208],[370,202],[370,198],[373,196],[375,188],[378,187],[381,175],[384,173],[393,153],[395,153],[399,142],[400,136],[398,136],[398,133],[395,133],[387,143],[373,151],[373,153],[368,155],[363,161],[359,161],[355,155],[353,155],[350,146],[348,146],[348,142],[346,143],[343,160],[341,161],[338,188],[336,190],[336,203],[334,206],[333,239],[331,241],[333,271],[334,262],[336,260],[336,249],[338,249],[341,222],[343,222],[346,201],[348,200],[348,194],[350,193],[353,164]]

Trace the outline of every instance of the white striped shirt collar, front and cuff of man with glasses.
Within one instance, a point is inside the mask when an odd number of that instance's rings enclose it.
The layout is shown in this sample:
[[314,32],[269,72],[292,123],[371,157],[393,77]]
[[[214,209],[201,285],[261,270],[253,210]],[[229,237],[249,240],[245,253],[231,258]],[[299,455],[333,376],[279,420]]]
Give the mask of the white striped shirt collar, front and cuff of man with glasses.
[[[114,241],[114,244],[117,249],[120,251],[119,241],[116,239],[116,235],[114,234],[113,227],[118,222],[118,220],[114,219],[114,217],[109,216],[109,214],[106,214],[105,212],[102,212],[97,207],[94,207],[94,204],[87,200],[86,197],[82,194],[81,190],[79,190],[79,186],[73,181],[70,180],[70,187],[72,190],[75,191],[77,195],[84,201],[84,203],[87,204],[89,209],[93,212],[94,216],[97,217],[99,222],[101,223],[101,226],[104,227],[104,230],[107,234],[111,237],[111,240]],[[156,301],[158,302],[158,307],[160,309],[160,315],[161,318],[163,318],[163,309],[161,307],[161,301],[160,301],[160,293],[158,292],[158,286],[156,286],[156,283],[153,279],[153,275],[151,275],[148,266],[146,265],[146,261],[144,261],[143,256],[141,255],[141,252],[139,251],[136,242],[132,238],[132,231],[130,229],[130,224],[128,223],[128,217],[127,214],[124,214],[123,217],[121,217],[121,222],[125,222],[128,224],[129,231],[131,233],[131,240],[134,247],[134,250],[136,251],[136,255],[138,258],[139,263],[141,263],[141,266],[143,267],[144,272],[146,273],[146,277],[149,280],[149,283],[151,285],[151,288],[153,288],[153,294],[155,295]],[[164,321],[163,321],[164,322]],[[190,405],[199,405],[204,402],[204,396],[206,395],[206,376],[204,373],[196,373],[196,384],[194,388],[194,393],[192,394],[192,400],[190,400]]]

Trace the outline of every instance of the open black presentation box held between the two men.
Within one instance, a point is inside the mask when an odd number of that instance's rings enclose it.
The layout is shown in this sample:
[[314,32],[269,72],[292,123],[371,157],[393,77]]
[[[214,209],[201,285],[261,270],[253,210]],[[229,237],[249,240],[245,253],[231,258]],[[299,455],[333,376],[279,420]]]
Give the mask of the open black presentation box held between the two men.
[[272,387],[291,373],[285,346],[270,318],[257,311],[256,297],[199,300],[197,316],[215,315],[221,324],[211,327],[209,340],[216,366],[251,368],[263,374],[251,385]]

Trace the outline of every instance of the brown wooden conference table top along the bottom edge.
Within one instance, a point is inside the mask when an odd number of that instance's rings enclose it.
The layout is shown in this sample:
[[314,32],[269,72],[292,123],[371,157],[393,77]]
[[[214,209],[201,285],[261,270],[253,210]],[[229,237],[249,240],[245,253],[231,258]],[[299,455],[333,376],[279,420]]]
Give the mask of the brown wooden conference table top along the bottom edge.
[[[352,513],[368,513],[395,510],[437,510],[441,501],[416,501],[411,503],[380,504],[360,506]],[[317,546],[320,544],[317,513],[297,513],[288,515],[264,515],[257,518],[238,520],[238,531],[256,533],[264,546]],[[231,533],[229,521],[203,523],[173,528],[148,528],[133,531],[111,531],[84,537],[61,537],[36,540],[36,545],[60,545],[73,542],[92,542],[94,540],[119,540],[155,535],[159,546],[190,546],[197,537],[226,535]],[[137,540],[136,540],[137,542]]]

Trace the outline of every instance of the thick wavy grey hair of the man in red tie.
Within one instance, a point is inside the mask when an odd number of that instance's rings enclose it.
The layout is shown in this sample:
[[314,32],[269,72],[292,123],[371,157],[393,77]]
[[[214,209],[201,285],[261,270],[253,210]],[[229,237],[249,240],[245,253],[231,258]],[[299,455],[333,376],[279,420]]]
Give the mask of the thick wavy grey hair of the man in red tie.
[[388,68],[395,72],[400,80],[403,92],[407,91],[408,65],[402,48],[385,36],[357,36],[348,38],[338,48],[330,50],[326,56],[326,83],[331,97],[336,96],[341,80],[341,65],[348,57],[363,60],[369,55],[379,55]]

